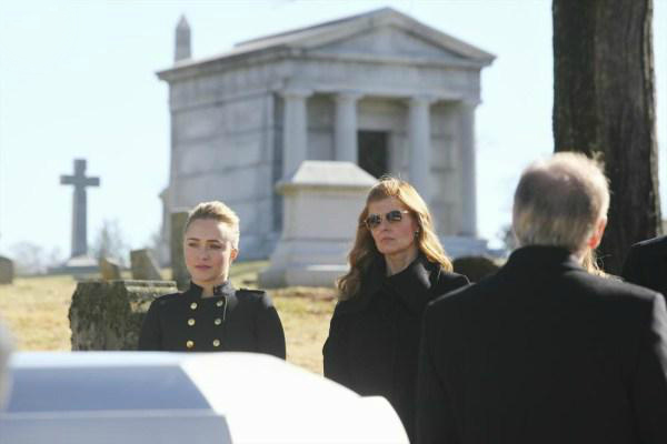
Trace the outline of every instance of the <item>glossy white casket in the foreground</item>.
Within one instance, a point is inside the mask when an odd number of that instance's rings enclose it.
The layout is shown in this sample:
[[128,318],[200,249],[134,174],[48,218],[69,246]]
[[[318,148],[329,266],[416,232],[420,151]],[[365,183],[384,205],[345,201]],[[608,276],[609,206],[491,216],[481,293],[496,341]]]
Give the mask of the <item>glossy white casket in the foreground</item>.
[[26,352],[1,444],[405,443],[382,397],[268,355]]

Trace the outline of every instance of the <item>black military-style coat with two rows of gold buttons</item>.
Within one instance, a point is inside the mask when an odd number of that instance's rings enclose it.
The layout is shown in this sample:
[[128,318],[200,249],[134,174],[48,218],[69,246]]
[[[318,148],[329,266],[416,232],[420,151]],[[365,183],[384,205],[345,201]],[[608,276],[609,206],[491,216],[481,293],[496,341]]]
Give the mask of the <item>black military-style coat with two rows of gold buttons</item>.
[[195,283],[182,293],[156,299],[148,309],[139,350],[255,352],[285,359],[285,333],[271,299],[229,282],[202,297]]

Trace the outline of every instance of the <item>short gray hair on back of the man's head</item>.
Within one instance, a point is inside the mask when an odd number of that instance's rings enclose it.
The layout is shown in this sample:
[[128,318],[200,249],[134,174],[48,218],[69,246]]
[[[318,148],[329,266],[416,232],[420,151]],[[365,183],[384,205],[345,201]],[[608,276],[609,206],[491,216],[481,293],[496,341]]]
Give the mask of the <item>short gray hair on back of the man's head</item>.
[[559,152],[529,165],[515,192],[512,228],[519,245],[580,251],[609,209],[601,162]]

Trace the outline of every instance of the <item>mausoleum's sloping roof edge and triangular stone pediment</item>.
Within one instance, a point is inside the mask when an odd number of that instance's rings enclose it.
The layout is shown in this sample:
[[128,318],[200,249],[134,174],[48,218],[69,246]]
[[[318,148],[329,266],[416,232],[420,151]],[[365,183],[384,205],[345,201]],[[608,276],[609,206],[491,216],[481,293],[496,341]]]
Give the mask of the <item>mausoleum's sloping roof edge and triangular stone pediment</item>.
[[236,65],[242,60],[332,57],[379,63],[442,63],[479,68],[495,56],[430,28],[391,8],[240,42],[231,51],[199,60],[183,59],[158,72],[163,80],[192,68]]

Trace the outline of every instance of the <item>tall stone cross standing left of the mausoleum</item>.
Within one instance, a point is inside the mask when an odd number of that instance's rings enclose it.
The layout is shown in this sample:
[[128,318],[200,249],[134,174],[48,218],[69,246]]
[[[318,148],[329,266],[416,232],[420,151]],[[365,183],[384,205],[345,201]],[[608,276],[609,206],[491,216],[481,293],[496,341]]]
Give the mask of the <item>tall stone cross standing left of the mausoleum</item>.
[[99,186],[100,178],[86,176],[86,160],[74,159],[74,175],[61,175],[62,185],[74,185],[72,204],[72,258],[88,253],[86,186]]

